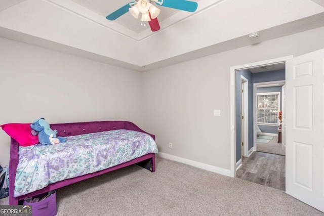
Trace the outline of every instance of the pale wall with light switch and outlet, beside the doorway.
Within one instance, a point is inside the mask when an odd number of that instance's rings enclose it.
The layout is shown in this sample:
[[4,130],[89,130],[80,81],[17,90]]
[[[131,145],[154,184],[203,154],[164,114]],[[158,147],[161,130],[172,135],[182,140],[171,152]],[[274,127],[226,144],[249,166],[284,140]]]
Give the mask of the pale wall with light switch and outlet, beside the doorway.
[[322,48],[324,27],[146,72],[144,128],[159,152],[229,170],[230,67]]

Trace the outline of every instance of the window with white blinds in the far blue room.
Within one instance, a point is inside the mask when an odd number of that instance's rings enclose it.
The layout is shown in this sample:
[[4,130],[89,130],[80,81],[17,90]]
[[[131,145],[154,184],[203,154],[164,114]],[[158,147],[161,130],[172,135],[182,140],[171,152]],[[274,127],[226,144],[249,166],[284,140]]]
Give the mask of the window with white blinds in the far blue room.
[[257,123],[276,125],[280,109],[280,92],[257,93]]

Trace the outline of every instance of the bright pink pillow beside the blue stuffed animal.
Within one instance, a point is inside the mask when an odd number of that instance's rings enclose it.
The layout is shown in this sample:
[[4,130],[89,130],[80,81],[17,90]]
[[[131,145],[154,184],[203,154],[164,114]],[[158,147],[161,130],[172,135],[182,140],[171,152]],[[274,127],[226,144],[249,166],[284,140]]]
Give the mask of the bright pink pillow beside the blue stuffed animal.
[[30,123],[9,123],[0,125],[0,127],[20,146],[31,146],[39,143],[38,136],[31,134]]

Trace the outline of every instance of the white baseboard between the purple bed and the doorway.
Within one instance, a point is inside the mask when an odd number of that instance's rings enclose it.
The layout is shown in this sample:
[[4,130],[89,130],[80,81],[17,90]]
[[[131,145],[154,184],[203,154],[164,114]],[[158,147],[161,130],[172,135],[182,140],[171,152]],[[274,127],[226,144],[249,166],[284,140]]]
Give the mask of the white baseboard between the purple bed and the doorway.
[[208,165],[208,164],[205,164],[205,163],[200,163],[200,162],[193,161],[193,160],[188,160],[188,159],[185,159],[185,158],[182,158],[182,157],[177,157],[177,156],[174,156],[174,155],[171,155],[171,154],[166,154],[166,153],[163,153],[163,152],[159,152],[157,154],[157,156],[161,157],[161,158],[166,158],[166,159],[169,159],[169,160],[174,160],[174,161],[177,161],[177,162],[180,162],[180,163],[185,163],[185,164],[195,166],[195,167],[198,167],[198,168],[201,168],[201,169],[205,169],[205,170],[208,170],[208,171],[216,172],[217,174],[221,174],[221,175],[224,175],[224,176],[230,177],[230,175],[231,175],[231,171],[229,169],[224,169],[224,168]]

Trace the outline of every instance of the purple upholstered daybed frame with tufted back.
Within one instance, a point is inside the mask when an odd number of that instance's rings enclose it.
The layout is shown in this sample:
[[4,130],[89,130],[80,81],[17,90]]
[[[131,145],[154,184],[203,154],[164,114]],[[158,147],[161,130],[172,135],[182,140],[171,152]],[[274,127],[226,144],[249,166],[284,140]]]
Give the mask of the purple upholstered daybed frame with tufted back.
[[[61,123],[61,124],[51,124],[51,128],[57,129],[58,134],[57,136],[60,137],[67,137],[67,136],[75,136],[80,134],[90,134],[90,133],[96,133],[96,132],[102,132],[102,131],[111,131],[114,129],[128,129],[131,131],[138,131],[143,132],[148,135],[150,135],[154,140],[155,136],[152,134],[149,134],[145,131],[143,131],[141,128],[139,128],[136,124],[129,122],[129,121],[92,121],[92,122],[79,122],[79,123]],[[93,172],[91,174],[86,174],[84,176],[75,177],[72,179],[66,179],[60,182],[56,182],[53,184],[49,184],[47,187],[37,190],[19,197],[14,197],[14,191],[15,191],[15,180],[16,180],[16,169],[17,165],[19,163],[19,146],[16,140],[11,138],[11,146],[10,146],[10,162],[9,162],[9,204],[10,205],[18,205],[19,201],[28,198],[33,197],[38,194],[46,193],[51,190],[55,190],[58,188],[62,188],[64,186],[89,179],[95,176],[99,176],[102,174],[105,174],[107,172],[123,168],[132,164],[138,164],[151,172],[155,171],[155,154],[149,153],[146,155],[143,155],[141,157],[135,158],[133,160],[130,160],[125,163],[121,163],[116,166],[112,166],[107,169],[103,169],[97,172]]]

